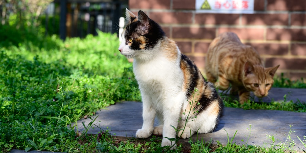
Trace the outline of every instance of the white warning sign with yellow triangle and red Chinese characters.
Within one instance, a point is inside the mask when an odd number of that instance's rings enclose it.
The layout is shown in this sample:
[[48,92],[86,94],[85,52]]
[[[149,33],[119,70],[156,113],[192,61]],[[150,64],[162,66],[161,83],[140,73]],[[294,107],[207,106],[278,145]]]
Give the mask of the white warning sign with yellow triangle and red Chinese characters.
[[254,0],[196,0],[197,13],[254,13]]

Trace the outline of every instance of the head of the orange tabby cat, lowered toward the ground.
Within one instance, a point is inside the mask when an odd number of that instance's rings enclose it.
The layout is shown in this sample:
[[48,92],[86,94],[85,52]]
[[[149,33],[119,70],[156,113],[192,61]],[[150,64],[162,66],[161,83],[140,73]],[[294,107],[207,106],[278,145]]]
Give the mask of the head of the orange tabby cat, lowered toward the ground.
[[261,65],[253,65],[251,62],[244,64],[243,84],[248,91],[252,91],[257,97],[265,97],[271,89],[273,76],[279,65],[264,68]]

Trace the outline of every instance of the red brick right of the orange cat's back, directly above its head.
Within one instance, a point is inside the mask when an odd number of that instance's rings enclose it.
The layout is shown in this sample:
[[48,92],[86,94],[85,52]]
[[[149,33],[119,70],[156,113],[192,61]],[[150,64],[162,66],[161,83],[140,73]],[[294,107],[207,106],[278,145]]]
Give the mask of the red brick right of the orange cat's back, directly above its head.
[[286,55],[288,54],[288,44],[278,43],[246,43],[258,51],[260,55]]

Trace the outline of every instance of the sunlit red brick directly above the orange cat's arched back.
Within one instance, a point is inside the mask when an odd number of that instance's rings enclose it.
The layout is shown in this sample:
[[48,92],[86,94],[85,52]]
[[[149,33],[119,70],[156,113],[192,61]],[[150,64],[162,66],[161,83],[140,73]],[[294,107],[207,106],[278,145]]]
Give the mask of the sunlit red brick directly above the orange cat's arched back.
[[259,39],[262,40],[264,37],[263,28],[219,28],[218,35],[223,32],[234,32],[240,39]]

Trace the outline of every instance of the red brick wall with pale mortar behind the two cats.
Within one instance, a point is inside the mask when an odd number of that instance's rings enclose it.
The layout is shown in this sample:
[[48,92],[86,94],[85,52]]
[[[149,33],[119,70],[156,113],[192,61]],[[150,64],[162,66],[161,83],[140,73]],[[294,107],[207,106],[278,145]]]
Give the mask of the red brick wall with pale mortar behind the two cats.
[[255,0],[254,14],[196,13],[196,0],[129,0],[137,15],[143,10],[204,72],[210,42],[222,32],[235,32],[260,53],[266,67],[280,64],[278,74],[306,77],[306,1]]

